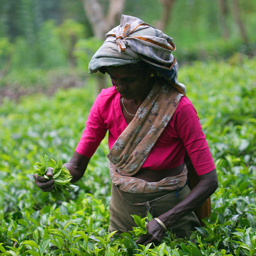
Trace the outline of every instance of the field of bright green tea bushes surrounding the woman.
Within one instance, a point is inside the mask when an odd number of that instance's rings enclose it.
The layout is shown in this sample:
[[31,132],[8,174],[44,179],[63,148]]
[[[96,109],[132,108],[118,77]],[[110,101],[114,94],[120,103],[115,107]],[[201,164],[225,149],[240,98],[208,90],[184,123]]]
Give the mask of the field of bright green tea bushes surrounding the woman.
[[166,234],[160,245],[136,245],[136,235],[108,234],[110,179],[107,138],[66,201],[54,202],[33,183],[39,155],[66,162],[96,97],[82,88],[35,94],[0,105],[0,255],[5,256],[255,256],[256,58],[242,63],[196,62],[179,81],[198,111],[214,158],[219,188],[205,226],[190,239]]

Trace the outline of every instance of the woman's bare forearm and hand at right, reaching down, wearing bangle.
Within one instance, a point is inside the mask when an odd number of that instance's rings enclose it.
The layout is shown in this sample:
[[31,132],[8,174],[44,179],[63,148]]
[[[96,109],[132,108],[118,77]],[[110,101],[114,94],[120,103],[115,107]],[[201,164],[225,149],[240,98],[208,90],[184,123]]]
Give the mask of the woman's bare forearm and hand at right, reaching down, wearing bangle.
[[[199,176],[200,181],[197,186],[190,191],[190,193],[179,202],[171,210],[158,216],[167,228],[171,228],[172,224],[177,220],[187,215],[191,211],[197,209],[205,200],[207,200],[214,191],[218,188],[218,178],[216,169],[211,172]],[[151,242],[160,242],[165,234],[165,230],[160,226],[156,220],[152,220],[147,224],[147,234],[140,237],[137,244],[149,244]]]

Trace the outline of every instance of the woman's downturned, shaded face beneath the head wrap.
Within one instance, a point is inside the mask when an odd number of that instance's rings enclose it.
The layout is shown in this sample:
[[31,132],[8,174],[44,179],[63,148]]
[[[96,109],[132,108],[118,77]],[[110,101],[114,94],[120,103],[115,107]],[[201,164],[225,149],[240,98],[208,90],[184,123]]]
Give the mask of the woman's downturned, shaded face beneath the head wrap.
[[150,69],[139,71],[124,65],[108,67],[107,73],[121,97],[126,100],[144,100],[153,86]]

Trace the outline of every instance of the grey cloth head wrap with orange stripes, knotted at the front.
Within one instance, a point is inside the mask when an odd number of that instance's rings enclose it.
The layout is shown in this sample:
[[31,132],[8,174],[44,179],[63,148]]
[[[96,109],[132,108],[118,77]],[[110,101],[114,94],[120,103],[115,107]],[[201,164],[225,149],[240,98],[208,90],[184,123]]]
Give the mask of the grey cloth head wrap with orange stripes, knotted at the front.
[[176,46],[172,38],[139,18],[122,14],[120,25],[105,35],[105,41],[89,63],[89,73],[100,67],[122,66],[145,61],[157,74],[167,78],[186,94],[178,82],[178,63],[172,55]]

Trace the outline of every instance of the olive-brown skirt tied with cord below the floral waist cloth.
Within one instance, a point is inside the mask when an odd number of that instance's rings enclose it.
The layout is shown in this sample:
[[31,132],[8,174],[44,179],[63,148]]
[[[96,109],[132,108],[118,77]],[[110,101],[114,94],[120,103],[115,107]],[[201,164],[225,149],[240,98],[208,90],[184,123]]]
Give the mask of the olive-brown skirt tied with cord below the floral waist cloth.
[[[118,232],[115,234],[120,235],[123,232],[132,231],[136,224],[131,215],[138,215],[144,218],[147,216],[149,208],[151,208],[153,218],[158,217],[176,206],[190,191],[189,186],[186,185],[178,193],[175,193],[175,191],[161,191],[134,194],[123,192],[112,184],[109,232],[117,230]],[[200,227],[200,222],[192,211],[174,223],[170,231],[176,234],[176,237],[189,238],[191,231],[195,230],[195,227]]]

